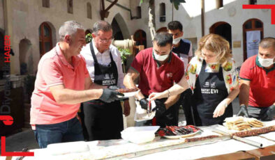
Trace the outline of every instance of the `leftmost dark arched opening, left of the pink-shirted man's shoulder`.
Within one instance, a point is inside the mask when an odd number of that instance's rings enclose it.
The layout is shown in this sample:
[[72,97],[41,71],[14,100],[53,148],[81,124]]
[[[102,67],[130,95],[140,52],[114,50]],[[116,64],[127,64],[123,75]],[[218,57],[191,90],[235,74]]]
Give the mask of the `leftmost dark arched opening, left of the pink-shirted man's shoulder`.
[[31,41],[28,39],[20,40],[19,43],[19,61],[20,61],[20,74],[33,73],[34,61],[32,52]]

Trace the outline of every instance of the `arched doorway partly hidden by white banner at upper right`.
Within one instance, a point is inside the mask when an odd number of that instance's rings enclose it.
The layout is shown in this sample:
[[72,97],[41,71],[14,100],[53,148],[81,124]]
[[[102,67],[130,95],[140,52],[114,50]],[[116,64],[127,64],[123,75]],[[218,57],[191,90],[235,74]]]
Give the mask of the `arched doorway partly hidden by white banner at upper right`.
[[260,32],[260,39],[264,37],[264,24],[260,19],[248,19],[244,24],[242,25],[243,28],[243,40],[244,40],[244,61],[246,61],[249,56],[247,54],[247,45],[246,45],[246,33],[248,31],[258,31]]

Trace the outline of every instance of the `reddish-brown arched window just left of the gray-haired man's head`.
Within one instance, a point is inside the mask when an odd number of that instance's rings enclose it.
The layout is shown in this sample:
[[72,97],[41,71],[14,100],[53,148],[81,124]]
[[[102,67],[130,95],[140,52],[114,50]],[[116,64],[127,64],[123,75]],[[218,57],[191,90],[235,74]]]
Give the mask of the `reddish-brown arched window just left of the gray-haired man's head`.
[[39,26],[39,49],[40,57],[52,49],[52,29],[46,22]]

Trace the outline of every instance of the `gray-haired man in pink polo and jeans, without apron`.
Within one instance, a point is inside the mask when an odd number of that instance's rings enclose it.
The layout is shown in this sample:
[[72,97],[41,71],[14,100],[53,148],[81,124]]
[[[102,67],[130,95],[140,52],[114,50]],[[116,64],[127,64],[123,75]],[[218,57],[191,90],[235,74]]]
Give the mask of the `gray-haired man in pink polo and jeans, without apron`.
[[112,102],[120,95],[91,81],[85,60],[80,56],[86,45],[81,24],[65,22],[59,29],[59,38],[56,47],[38,63],[31,96],[30,123],[40,148],[52,143],[83,141],[82,127],[76,118],[80,103],[91,99]]

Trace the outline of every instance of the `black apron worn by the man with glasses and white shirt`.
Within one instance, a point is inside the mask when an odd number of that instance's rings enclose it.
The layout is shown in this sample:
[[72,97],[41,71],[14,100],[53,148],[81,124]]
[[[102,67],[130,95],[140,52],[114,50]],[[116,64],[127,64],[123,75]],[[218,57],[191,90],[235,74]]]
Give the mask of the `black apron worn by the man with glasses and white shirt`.
[[[92,42],[91,56],[94,58],[94,83],[102,86],[117,86],[117,65],[112,58],[109,65],[98,63]],[[89,141],[121,138],[123,118],[120,101],[105,103],[100,99],[84,102],[84,122],[89,134]]]

